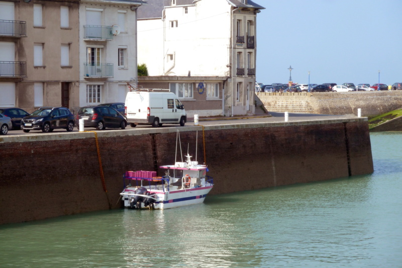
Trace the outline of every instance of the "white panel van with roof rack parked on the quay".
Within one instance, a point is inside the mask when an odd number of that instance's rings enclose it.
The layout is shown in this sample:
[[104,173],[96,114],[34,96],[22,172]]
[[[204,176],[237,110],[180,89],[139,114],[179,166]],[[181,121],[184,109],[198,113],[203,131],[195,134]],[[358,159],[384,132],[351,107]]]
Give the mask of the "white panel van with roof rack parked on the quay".
[[184,126],[187,115],[184,106],[172,92],[128,92],[125,114],[131,127],[136,125],[180,124]]

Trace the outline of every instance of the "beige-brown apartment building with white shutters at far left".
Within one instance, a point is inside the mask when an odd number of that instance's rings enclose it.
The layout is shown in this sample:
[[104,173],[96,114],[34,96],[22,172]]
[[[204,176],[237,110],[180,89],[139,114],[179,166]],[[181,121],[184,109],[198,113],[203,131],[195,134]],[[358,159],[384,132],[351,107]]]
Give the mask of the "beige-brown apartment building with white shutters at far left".
[[0,107],[78,104],[76,1],[0,1]]

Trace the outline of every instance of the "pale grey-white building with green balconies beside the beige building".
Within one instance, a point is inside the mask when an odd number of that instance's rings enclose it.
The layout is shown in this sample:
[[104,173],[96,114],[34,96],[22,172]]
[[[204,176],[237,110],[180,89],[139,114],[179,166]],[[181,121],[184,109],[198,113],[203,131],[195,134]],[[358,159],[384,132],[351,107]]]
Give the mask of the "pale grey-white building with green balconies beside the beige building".
[[83,0],[79,7],[79,106],[124,102],[137,83],[141,0]]

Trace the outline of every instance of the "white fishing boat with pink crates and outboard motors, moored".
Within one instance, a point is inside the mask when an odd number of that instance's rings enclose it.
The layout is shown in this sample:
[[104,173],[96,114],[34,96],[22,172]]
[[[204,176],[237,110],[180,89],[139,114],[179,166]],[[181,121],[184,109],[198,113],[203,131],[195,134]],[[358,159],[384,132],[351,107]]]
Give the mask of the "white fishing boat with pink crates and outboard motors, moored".
[[170,209],[203,203],[214,186],[213,178],[207,175],[205,163],[198,164],[191,157],[187,152],[186,161],[160,166],[163,176],[157,176],[156,171],[127,171],[123,177],[124,190],[120,193],[124,207]]

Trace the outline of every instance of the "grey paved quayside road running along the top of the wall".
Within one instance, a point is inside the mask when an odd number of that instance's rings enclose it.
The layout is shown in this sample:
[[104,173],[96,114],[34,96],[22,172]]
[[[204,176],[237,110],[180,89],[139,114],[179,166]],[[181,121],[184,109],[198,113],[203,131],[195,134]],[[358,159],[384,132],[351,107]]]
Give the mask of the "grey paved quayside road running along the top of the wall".
[[[269,115],[271,117],[265,117],[264,114],[258,114],[255,116],[250,117],[215,117],[215,118],[200,118],[199,124],[204,126],[212,126],[212,125],[226,125],[226,124],[242,124],[242,123],[262,123],[262,122],[283,122],[284,121],[284,113],[275,113],[270,112]],[[308,120],[326,120],[326,119],[340,119],[340,118],[355,118],[356,116],[353,115],[318,115],[318,114],[296,114],[296,113],[289,113],[289,122],[291,121],[308,121]],[[189,120],[186,126],[194,125],[194,122]],[[168,127],[177,127],[178,125],[173,124],[166,124],[163,125],[161,128],[168,128]],[[152,128],[150,125],[138,125],[135,128],[127,126],[126,129],[138,129],[138,128]],[[95,128],[85,128],[87,131],[96,130]],[[102,131],[124,131],[120,128],[107,128],[106,130]],[[52,133],[57,132],[66,132],[65,129],[55,129]],[[77,127],[74,127],[73,132],[78,132]],[[43,133],[42,131],[30,131],[29,133],[25,133],[22,130],[10,130],[7,135],[47,135],[48,133]]]

